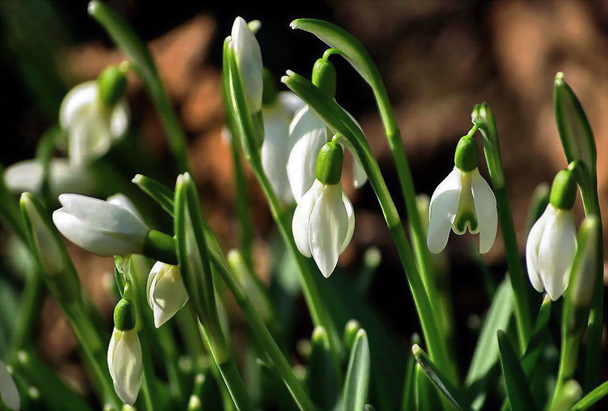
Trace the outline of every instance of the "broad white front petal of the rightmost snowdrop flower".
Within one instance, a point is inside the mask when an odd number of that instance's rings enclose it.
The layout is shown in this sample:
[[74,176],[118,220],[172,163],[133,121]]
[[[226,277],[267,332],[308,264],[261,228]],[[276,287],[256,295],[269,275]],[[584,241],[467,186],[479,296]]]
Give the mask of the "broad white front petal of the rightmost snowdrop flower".
[[556,210],[542,233],[538,268],[551,300],[557,300],[568,287],[570,268],[577,252],[577,231],[572,211]]

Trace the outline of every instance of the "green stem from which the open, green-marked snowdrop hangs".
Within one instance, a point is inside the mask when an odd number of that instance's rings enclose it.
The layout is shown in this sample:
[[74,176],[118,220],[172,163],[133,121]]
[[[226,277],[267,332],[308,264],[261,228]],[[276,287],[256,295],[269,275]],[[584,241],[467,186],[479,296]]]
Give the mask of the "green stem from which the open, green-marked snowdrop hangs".
[[473,132],[475,127],[477,127],[483,137],[484,155],[488,164],[492,186],[494,187],[494,195],[496,196],[498,219],[501,221],[505,255],[509,267],[509,279],[516,302],[517,340],[519,342],[519,350],[523,353],[526,350],[526,344],[532,332],[532,316],[526,290],[526,281],[528,279],[519,256],[517,235],[515,233],[515,225],[505,183],[501,146],[498,142],[498,130],[496,130],[494,115],[487,103],[477,104],[473,109],[472,118],[473,129],[471,131]]

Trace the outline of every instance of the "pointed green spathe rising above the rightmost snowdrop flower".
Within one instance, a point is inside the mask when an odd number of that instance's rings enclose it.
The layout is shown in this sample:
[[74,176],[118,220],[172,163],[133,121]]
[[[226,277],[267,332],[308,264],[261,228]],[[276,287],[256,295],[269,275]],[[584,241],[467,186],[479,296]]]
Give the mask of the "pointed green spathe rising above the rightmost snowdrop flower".
[[563,72],[558,72],[555,77],[553,107],[566,160],[581,160],[595,179],[598,153],[593,131],[577,95],[563,77]]

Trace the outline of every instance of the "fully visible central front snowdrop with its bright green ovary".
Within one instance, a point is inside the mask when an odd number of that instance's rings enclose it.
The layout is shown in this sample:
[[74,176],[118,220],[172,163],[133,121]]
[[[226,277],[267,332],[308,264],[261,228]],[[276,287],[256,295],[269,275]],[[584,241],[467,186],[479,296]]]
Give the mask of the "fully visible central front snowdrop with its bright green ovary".
[[292,231],[304,256],[312,256],[324,277],[329,277],[355,230],[353,205],[340,183],[343,149],[329,142],[322,146],[316,180],[295,209]]

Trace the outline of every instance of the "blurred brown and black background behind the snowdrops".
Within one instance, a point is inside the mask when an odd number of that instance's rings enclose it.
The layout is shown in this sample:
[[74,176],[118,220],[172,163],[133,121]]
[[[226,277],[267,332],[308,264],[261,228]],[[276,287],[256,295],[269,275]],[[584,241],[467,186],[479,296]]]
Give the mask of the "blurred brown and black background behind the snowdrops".
[[[447,176],[457,141],[470,128],[473,105],[489,102],[498,124],[522,250],[533,190],[539,183],[550,183],[558,169],[567,165],[551,102],[554,76],[563,71],[595,132],[600,203],[604,214],[608,213],[608,1],[309,1],[281,6],[177,0],[107,3],[150,42],[186,128],[190,162],[207,216],[227,248],[237,245],[237,236],[230,152],[221,141],[223,109],[218,81],[221,42],[237,15],[262,21],[258,34],[262,57],[277,79],[287,69],[309,75],[325,49],[317,38],[289,28],[295,18],[329,20],[359,38],[385,79],[418,192],[432,194]],[[58,104],[68,88],[93,79],[122,57],[87,16],[86,1],[3,0],[1,11],[4,127],[0,159],[8,166],[33,157],[40,134],[57,120]],[[337,58],[334,62],[339,73],[337,100],[361,123],[397,206],[404,212],[371,92],[348,63]],[[128,93],[140,132],[139,144],[146,155],[163,165],[167,176],[175,176],[151,102],[138,79],[132,80]],[[138,172],[142,171],[124,166],[126,177]],[[482,169],[482,174],[487,176],[487,170]],[[272,219],[251,175],[249,182],[258,255],[264,256]],[[392,240],[371,187],[366,185],[349,194],[357,226],[341,265],[347,273],[351,268],[354,272],[364,249],[376,245],[383,251],[383,265],[373,279],[369,297],[403,336],[406,349],[417,320]],[[580,219],[581,206],[577,204],[577,222]],[[452,234],[446,251],[450,263],[446,286],[451,289],[459,335],[456,343],[464,352],[463,364],[473,350],[471,315],[482,315],[488,305],[479,269],[470,258],[470,245],[475,241],[470,235]],[[91,257],[75,247],[71,251],[87,288],[109,313],[114,302],[99,284],[101,274],[110,272],[111,261]],[[497,281],[503,277],[506,264],[500,240],[484,261]],[[260,265],[263,272],[267,265],[263,258]],[[605,265],[605,272],[607,269]],[[61,331],[68,325],[54,321],[58,311],[51,304],[44,312],[40,338],[47,342],[45,352],[59,368],[69,371],[72,365],[66,356],[71,348],[63,338],[53,344],[53,337],[64,335]],[[309,335],[309,327],[307,320],[302,320],[303,336]],[[605,379],[605,355],[602,361]]]

